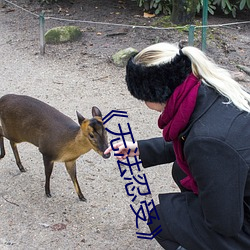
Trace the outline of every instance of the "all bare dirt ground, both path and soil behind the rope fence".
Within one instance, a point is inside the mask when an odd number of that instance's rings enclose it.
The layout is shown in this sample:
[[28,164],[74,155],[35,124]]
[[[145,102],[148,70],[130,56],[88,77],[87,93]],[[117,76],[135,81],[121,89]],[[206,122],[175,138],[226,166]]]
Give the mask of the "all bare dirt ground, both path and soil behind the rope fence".
[[[76,110],[91,117],[94,105],[103,115],[124,110],[128,118],[113,118],[107,124],[109,129],[118,131],[118,123],[129,122],[135,140],[161,136],[158,114],[130,96],[124,68],[116,67],[110,58],[127,47],[140,50],[158,41],[187,40],[187,32],[101,24],[150,26],[159,19],[143,18],[143,11],[129,0],[60,1],[52,8],[40,7],[36,1],[13,1],[17,2],[32,13],[45,10],[46,17],[100,23],[70,22],[84,31],[81,40],[46,45],[41,56],[38,17],[9,4],[0,9],[1,96],[18,93],[39,98],[75,121]],[[246,20],[249,15],[238,19],[209,17],[209,24]],[[61,25],[69,22],[46,19],[46,30]],[[249,76],[239,72],[237,65],[250,66],[249,34],[249,23],[217,27],[209,29],[207,41],[208,55],[240,73],[240,82],[246,87]],[[196,36],[195,45],[200,46],[200,36]],[[109,134],[109,140],[114,138]],[[87,202],[78,200],[64,165],[55,164],[49,199],[44,194],[44,168],[38,150],[30,144],[19,145],[27,170],[20,173],[8,141],[5,145],[6,156],[0,162],[0,249],[161,249],[155,240],[136,237],[136,232],[149,230],[144,221],[136,228],[131,197],[126,194],[126,182],[114,157],[104,160],[91,151],[77,160],[78,181]],[[153,199],[157,204],[159,193],[178,191],[170,177],[170,165],[141,171],[151,190],[147,201]]]

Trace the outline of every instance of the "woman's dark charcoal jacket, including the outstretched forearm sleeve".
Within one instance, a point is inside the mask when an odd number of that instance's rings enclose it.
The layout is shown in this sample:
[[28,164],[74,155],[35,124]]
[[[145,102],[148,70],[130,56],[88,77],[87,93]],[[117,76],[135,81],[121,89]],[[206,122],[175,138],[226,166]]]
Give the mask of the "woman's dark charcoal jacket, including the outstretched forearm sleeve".
[[[166,207],[163,221],[173,223],[173,234],[188,249],[250,249],[250,114],[223,102],[224,97],[201,85],[189,125],[179,137],[198,196],[160,195]],[[138,145],[144,167],[175,160],[172,144],[163,138]]]

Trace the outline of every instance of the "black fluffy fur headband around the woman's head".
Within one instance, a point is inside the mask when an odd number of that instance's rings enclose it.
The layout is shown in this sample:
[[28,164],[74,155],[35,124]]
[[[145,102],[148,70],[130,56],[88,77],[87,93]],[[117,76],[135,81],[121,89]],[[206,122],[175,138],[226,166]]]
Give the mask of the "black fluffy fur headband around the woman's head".
[[170,62],[154,66],[135,64],[134,56],[126,66],[126,82],[131,95],[142,101],[165,103],[192,72],[191,61],[182,52]]

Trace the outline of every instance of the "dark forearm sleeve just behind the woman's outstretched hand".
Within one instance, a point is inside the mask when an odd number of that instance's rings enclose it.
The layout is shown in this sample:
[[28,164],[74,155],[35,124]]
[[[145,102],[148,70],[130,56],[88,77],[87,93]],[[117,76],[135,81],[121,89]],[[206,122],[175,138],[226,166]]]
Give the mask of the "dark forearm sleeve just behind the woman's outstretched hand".
[[139,140],[138,148],[144,168],[175,161],[173,145],[166,142],[163,137]]

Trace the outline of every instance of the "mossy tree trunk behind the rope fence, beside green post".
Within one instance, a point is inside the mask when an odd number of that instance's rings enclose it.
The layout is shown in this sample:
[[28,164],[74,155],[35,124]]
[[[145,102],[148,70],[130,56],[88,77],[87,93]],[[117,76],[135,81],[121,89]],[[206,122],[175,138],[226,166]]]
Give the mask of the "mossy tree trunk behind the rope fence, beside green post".
[[198,0],[173,0],[171,22],[178,25],[192,24]]

